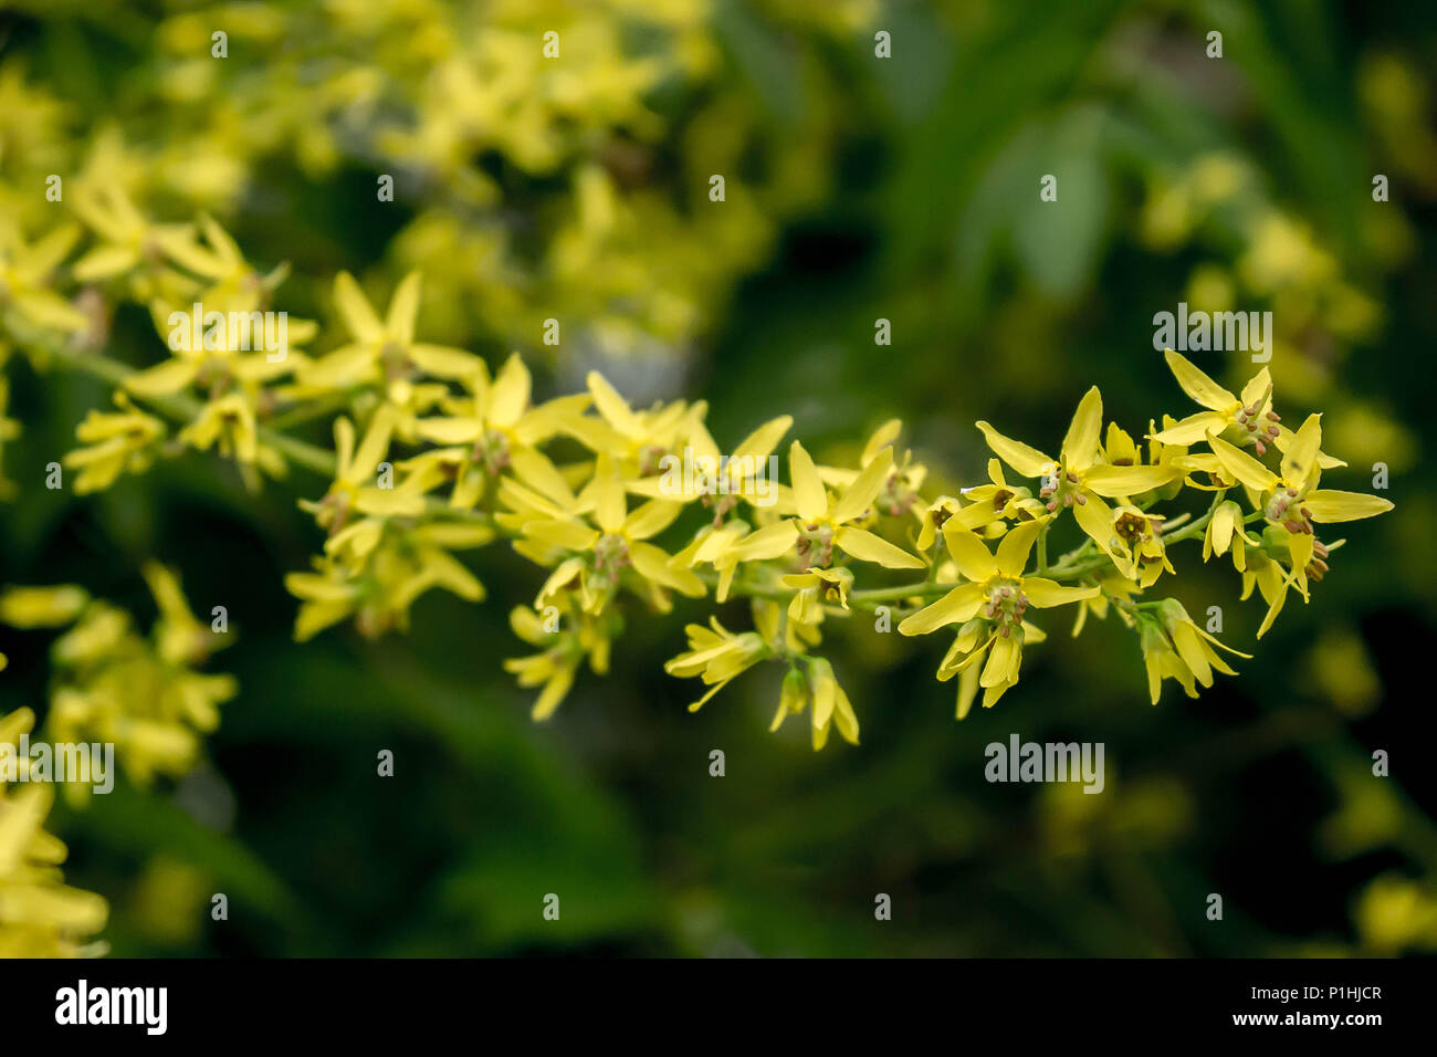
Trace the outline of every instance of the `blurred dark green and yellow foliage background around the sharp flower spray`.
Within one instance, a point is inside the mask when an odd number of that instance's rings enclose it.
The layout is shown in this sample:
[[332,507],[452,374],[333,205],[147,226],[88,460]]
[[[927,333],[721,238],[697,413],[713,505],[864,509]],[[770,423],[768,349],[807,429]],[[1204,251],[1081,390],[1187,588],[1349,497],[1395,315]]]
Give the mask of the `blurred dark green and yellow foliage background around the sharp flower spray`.
[[[487,604],[434,594],[407,636],[296,646],[282,578],[318,546],[296,499],[325,482],[256,496],[190,456],[45,490],[106,393],[16,360],[0,580],[145,620],[158,558],[237,636],[211,669],[241,692],[198,771],[57,808],[68,882],[111,900],[116,955],[1433,951],[1434,60],[1437,9],[1355,1],[0,3],[16,217],[47,173],[112,173],[161,219],[208,210],[260,266],[292,262],[295,314],[333,321],[338,269],[387,295],[420,266],[421,335],[523,351],[540,395],[598,367],[635,403],[708,400],[721,443],[792,413],[829,460],[898,416],[944,489],[980,479],[980,417],[1050,447],[1091,384],[1134,433],[1188,413],[1155,312],[1270,309],[1279,406],[1325,411],[1351,463],[1325,480],[1369,490],[1384,463],[1397,503],[1200,700],[1148,705],[1115,621],[1055,626],[960,723],[934,644],[831,623],[864,745],[813,754],[799,723],[766,732],[776,672],[685,710],[662,660],[707,608],[681,601],[631,616],[612,674],[533,725],[500,662],[537,569],[489,548],[467,559]],[[162,347],[137,315],[109,352]],[[1262,604],[1196,546],[1174,557],[1177,597],[1250,649]],[[47,643],[0,630],[0,713],[43,715]],[[989,785],[983,748],[1013,732],[1104,742],[1106,792]]]

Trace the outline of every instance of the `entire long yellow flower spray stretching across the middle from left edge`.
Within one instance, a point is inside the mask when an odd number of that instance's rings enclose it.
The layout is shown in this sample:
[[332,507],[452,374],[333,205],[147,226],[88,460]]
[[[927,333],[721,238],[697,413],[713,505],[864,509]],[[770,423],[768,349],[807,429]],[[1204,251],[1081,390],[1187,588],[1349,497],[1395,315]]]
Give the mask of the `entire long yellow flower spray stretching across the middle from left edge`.
[[[99,244],[69,272],[149,296],[157,325],[184,298],[256,309],[283,278],[285,269],[249,266],[213,220],[157,229],[118,193],[103,200],[124,223],[108,232],[92,219]],[[148,232],[135,252],[121,244],[132,229]],[[1198,411],[1150,421],[1135,439],[1105,420],[1094,387],[1056,454],[979,421],[996,459],[987,482],[957,495],[928,492],[927,467],[898,447],[897,420],[874,431],[852,466],[819,465],[789,441],[780,483],[769,466],[787,416],[723,457],[704,403],[635,408],[596,371],[581,393],[536,400],[517,354],[491,372],[474,352],[422,339],[418,273],[382,312],[341,273],[333,305],[345,334],[328,352],[292,349],[276,364],[270,349],[236,349],[216,335],[201,351],[171,342],[170,358],[135,372],[88,351],[89,324],[75,308],[83,296],[53,293],[72,246],[69,234],[52,234],[29,250],[27,295],[6,303],[4,319],[22,348],[118,383],[119,410],[91,413],[78,429],[88,446],[66,459],[79,485],[142,469],[167,429],[151,413],[182,423],[182,446],[227,454],[251,486],[256,469],[325,473],[328,488],[300,502],[325,534],[322,552],[287,578],[300,600],[299,639],[343,620],[366,636],[402,631],[431,588],[477,603],[484,587],[460,555],[507,539],[545,569],[532,610],[512,620],[539,651],[509,662],[523,686],[542,687],[536,718],[553,713],[585,660],[606,670],[624,597],[668,613],[674,595],[710,591],[716,603],[752,598],[756,631],[694,626],[691,650],[670,670],[703,676],[707,700],[746,667],[787,666],[777,719],[810,709],[815,745],[831,720],[858,736],[818,653],[825,620],[854,610],[897,611],[904,636],[951,630],[937,674],[958,677],[960,716],[979,689],[992,706],[1017,683],[1025,646],[1043,637],[1036,611],[1066,605],[1078,607],[1075,633],[1109,611],[1137,633],[1154,702],[1164,679],[1196,695],[1230,669],[1180,604],[1148,597],[1175,574],[1174,544],[1201,535],[1204,561],[1230,555],[1243,598],[1259,591],[1267,603],[1262,636],[1290,592],[1306,601],[1329,571],[1342,541],[1319,528],[1391,506],[1319,486],[1323,470],[1344,463],[1322,450],[1319,416],[1296,430],[1283,423],[1267,368],[1232,393],[1171,351],[1168,365]],[[300,325],[299,339],[316,331]],[[332,450],[285,430],[336,411]],[[1209,509],[1174,511],[1187,492],[1210,495]],[[1076,545],[1049,561],[1050,539],[1065,532]],[[904,571],[921,578],[894,582]]]

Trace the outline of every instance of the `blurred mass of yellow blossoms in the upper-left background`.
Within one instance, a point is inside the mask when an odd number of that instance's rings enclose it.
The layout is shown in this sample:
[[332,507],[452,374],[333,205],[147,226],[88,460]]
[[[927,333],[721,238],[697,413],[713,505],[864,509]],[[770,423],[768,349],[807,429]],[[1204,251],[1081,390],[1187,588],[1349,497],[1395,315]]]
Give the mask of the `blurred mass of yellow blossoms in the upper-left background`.
[[[17,6],[135,46],[119,13]],[[782,33],[806,78],[832,78],[823,46],[877,13],[872,0],[770,7],[754,29]],[[568,335],[596,354],[673,355],[713,325],[776,221],[825,190],[836,151],[838,115],[813,106],[776,150],[752,92],[724,76],[724,19],[710,0],[160,4],[144,60],[111,70],[112,118],[89,119],[20,63],[0,73],[0,216],[43,223],[49,174],[228,220],[286,180],[372,173],[375,207],[397,219],[379,269],[430,269],[447,338],[537,335],[563,305]],[[769,175],[746,180],[760,155]],[[716,173],[729,193],[703,209]],[[106,234],[85,280],[165,236],[103,203],[83,219]]]

